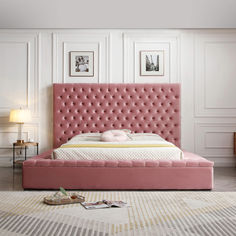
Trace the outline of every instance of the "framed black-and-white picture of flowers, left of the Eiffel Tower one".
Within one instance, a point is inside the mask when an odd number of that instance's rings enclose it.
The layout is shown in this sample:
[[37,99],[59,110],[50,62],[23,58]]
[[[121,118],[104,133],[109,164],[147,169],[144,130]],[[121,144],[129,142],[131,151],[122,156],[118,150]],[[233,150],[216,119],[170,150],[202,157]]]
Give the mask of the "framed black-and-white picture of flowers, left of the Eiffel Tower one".
[[94,76],[94,52],[70,52],[70,76]]

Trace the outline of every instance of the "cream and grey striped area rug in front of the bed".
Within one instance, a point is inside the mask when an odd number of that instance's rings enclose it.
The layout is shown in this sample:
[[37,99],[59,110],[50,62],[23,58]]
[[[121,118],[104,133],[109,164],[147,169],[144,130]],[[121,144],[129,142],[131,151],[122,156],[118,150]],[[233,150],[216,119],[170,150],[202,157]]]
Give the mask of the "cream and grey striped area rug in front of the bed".
[[0,235],[236,235],[236,193],[82,191],[86,201],[123,200],[128,208],[48,206],[53,192],[0,192]]

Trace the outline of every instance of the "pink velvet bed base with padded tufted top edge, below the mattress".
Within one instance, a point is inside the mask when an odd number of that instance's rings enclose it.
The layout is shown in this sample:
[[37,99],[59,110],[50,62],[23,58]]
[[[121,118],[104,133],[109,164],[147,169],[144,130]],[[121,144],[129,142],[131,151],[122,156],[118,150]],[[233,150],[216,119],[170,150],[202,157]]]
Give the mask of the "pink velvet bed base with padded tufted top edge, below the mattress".
[[23,163],[27,189],[212,189],[213,163],[185,152],[182,161],[64,161],[50,153]]

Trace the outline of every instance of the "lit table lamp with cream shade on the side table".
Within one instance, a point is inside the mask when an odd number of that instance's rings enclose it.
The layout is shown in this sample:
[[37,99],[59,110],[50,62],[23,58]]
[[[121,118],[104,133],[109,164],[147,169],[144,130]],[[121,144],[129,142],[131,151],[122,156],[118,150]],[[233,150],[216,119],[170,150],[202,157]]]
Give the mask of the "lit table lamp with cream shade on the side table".
[[9,121],[19,124],[17,143],[24,143],[22,139],[22,127],[25,122],[31,121],[31,112],[21,108],[11,110]]

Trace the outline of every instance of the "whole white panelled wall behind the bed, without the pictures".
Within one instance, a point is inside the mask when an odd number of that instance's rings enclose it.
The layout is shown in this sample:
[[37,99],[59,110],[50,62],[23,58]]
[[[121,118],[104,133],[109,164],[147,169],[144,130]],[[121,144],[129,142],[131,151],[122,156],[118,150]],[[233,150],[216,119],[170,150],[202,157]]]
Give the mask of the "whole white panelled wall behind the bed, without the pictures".
[[[165,51],[165,75],[139,76],[139,51]],[[95,52],[93,78],[70,77],[72,50]],[[182,147],[233,166],[236,30],[0,30],[0,165],[9,165],[17,126],[11,108],[28,107],[24,137],[52,146],[52,83],[181,83]],[[32,153],[31,153],[32,154]]]

